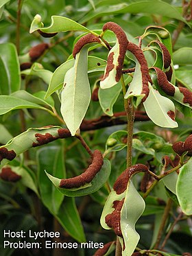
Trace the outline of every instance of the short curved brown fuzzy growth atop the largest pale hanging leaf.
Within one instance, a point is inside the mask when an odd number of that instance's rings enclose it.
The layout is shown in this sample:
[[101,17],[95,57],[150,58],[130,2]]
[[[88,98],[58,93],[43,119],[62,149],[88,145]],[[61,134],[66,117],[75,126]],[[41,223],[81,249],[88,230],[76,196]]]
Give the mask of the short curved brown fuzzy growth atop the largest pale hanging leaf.
[[86,34],[85,36],[82,36],[80,40],[75,43],[74,49],[73,49],[73,58],[75,58],[76,54],[80,52],[82,47],[84,45],[87,45],[88,43],[101,43],[99,37],[94,36],[93,34]]

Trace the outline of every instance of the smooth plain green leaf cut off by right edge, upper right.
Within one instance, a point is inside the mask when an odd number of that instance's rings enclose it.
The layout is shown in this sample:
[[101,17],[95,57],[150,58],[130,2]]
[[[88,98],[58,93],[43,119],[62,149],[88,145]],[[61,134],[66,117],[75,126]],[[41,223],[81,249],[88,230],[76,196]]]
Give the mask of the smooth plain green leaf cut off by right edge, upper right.
[[192,48],[182,47],[173,53],[174,65],[192,65]]

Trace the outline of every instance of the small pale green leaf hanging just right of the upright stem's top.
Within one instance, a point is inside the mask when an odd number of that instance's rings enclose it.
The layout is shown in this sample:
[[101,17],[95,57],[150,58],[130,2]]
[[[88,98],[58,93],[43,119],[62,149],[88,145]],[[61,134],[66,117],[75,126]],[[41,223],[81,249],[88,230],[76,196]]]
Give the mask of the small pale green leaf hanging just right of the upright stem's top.
[[125,94],[125,99],[128,99],[129,97],[134,97],[134,106],[137,107],[141,103],[143,97],[145,97],[145,94],[142,94],[143,79],[141,73],[141,65],[138,60],[134,61],[136,62],[134,76],[132,82],[130,83],[128,91]]

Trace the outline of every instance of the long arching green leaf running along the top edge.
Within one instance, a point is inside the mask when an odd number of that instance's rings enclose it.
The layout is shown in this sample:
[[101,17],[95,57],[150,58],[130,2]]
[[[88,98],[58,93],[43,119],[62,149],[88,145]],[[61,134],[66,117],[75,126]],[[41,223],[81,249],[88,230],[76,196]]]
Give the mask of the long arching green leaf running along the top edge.
[[133,14],[158,14],[186,23],[182,14],[175,7],[163,1],[139,1],[139,3],[118,3],[115,5],[112,5],[111,1],[105,1],[105,5],[99,6],[95,11],[88,12],[79,22],[85,23],[100,16],[128,12]]

